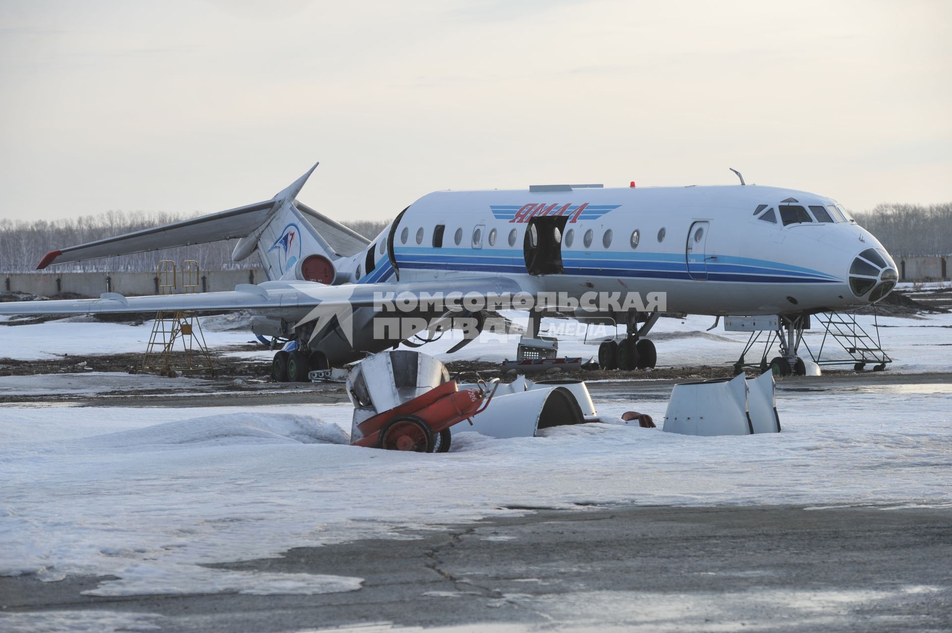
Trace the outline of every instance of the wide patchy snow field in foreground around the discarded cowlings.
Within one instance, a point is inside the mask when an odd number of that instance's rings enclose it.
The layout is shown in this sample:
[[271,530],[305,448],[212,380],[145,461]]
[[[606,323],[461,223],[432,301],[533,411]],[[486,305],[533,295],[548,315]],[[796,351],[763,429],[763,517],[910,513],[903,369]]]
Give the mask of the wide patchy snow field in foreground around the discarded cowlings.
[[[596,406],[661,419],[665,398]],[[461,433],[426,455],[347,445],[347,405],[5,406],[0,574],[111,575],[89,592],[109,596],[349,591],[346,569],[203,565],[520,512],[507,506],[952,505],[952,386],[781,391],[778,408],[780,434],[590,424]]]

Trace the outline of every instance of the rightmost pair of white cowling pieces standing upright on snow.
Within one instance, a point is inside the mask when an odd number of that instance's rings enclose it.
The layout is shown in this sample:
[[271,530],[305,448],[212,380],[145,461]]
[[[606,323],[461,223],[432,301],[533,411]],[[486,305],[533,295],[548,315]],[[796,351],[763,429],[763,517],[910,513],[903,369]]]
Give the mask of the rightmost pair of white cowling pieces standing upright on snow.
[[742,373],[730,380],[681,383],[671,390],[663,429],[702,436],[779,433],[776,410],[769,373],[749,381]]

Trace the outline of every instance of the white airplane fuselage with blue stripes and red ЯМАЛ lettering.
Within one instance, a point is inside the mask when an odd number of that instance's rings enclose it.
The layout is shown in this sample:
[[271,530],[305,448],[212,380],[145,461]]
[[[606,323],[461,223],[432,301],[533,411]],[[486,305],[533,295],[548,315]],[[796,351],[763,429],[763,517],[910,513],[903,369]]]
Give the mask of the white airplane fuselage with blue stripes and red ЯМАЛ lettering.
[[[782,210],[789,216],[795,207],[823,211],[808,210],[809,222],[784,226]],[[763,217],[769,210],[774,222]],[[358,284],[393,281],[399,271],[400,281],[500,275],[530,292],[574,296],[664,292],[668,311],[692,314],[862,306],[872,293],[850,287],[857,256],[879,249],[883,279],[873,273],[869,284],[883,289],[892,286],[886,270],[895,265],[873,235],[838,213],[825,196],[759,186],[437,191],[337,266]],[[546,217],[565,218],[561,267],[529,274],[526,230]]]

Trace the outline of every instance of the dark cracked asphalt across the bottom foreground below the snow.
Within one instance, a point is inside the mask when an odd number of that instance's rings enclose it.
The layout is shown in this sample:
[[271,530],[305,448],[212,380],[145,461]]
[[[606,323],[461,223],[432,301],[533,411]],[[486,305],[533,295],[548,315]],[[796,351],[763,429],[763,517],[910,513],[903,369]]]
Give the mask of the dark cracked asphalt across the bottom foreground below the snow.
[[[538,510],[215,567],[359,576],[359,591],[100,598],[0,578],[4,613],[158,614],[163,631],[952,629],[952,508]],[[0,621],[2,622],[2,621]]]

